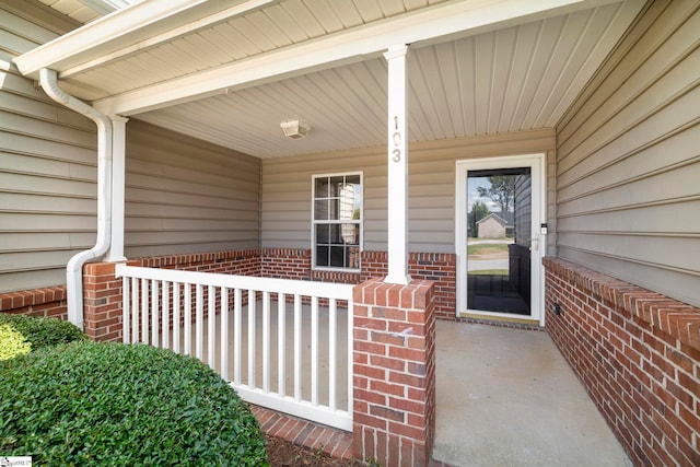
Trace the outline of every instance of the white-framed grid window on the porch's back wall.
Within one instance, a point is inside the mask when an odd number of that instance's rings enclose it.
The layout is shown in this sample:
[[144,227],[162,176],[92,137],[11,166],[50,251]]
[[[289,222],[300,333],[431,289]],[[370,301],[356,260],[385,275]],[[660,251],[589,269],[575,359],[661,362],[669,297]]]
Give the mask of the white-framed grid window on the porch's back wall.
[[312,261],[318,269],[360,269],[362,174],[315,175]]

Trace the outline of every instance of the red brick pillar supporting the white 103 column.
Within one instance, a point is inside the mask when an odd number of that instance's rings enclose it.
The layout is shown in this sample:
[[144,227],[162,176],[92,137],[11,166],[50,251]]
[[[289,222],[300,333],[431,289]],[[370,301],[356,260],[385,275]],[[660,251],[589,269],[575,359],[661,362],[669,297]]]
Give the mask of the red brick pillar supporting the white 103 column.
[[427,466],[435,427],[430,281],[354,288],[353,450],[382,466]]

